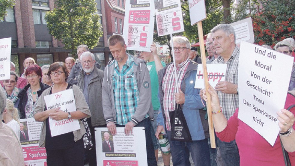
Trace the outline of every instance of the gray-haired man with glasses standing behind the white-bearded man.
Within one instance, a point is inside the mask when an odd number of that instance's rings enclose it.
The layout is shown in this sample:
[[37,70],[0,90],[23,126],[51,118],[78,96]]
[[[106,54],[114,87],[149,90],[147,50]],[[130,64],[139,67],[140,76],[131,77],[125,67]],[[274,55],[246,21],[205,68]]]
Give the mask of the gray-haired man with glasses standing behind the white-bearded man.
[[[86,46],[84,44],[77,47],[77,55],[78,55],[79,61],[76,62],[76,64],[74,64],[74,66],[72,67],[72,70],[70,71],[68,78],[75,79],[79,75],[79,73],[82,70],[82,64],[80,63],[80,61],[81,61],[80,57],[81,57],[82,53],[86,52],[86,51],[89,52],[89,48],[88,48],[88,46]],[[95,63],[95,66],[98,69],[100,69],[100,64],[98,62]]]

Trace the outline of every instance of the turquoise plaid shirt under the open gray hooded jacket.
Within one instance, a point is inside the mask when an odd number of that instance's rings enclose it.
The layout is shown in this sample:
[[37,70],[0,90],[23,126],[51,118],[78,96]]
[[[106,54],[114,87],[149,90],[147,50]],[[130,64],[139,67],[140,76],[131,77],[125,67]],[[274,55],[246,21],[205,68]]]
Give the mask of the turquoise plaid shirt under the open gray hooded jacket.
[[121,72],[118,63],[115,63],[113,89],[117,124],[126,125],[133,115],[139,102],[139,90],[133,71],[134,61],[128,56]]

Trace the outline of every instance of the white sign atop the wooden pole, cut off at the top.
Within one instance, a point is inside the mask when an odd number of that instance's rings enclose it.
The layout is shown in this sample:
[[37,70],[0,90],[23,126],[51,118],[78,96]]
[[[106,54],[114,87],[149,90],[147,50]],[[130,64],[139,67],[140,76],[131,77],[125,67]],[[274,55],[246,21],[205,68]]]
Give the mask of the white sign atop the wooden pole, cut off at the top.
[[191,25],[206,19],[205,0],[189,0],[189,16]]

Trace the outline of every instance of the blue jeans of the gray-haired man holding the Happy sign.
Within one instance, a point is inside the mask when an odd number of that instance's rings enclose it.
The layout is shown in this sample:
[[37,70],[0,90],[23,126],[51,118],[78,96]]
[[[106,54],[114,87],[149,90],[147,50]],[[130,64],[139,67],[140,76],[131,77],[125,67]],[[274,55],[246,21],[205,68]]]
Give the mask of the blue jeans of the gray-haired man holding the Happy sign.
[[220,141],[219,138],[217,138],[217,143],[218,143],[219,151],[221,153],[221,158],[224,165],[226,166],[240,165],[239,150],[235,140],[231,142],[223,142],[223,141]]

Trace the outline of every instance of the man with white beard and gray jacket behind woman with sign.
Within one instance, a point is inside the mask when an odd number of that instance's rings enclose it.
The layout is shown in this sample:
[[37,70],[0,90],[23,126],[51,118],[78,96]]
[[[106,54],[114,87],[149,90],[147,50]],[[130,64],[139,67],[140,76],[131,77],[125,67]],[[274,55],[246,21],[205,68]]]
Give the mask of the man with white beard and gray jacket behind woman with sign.
[[91,132],[93,148],[87,151],[89,166],[96,166],[95,127],[106,127],[103,117],[102,83],[103,70],[95,67],[94,55],[91,52],[83,52],[81,57],[82,71],[77,76],[78,86],[82,89],[85,100],[89,106],[91,117],[87,119]]

